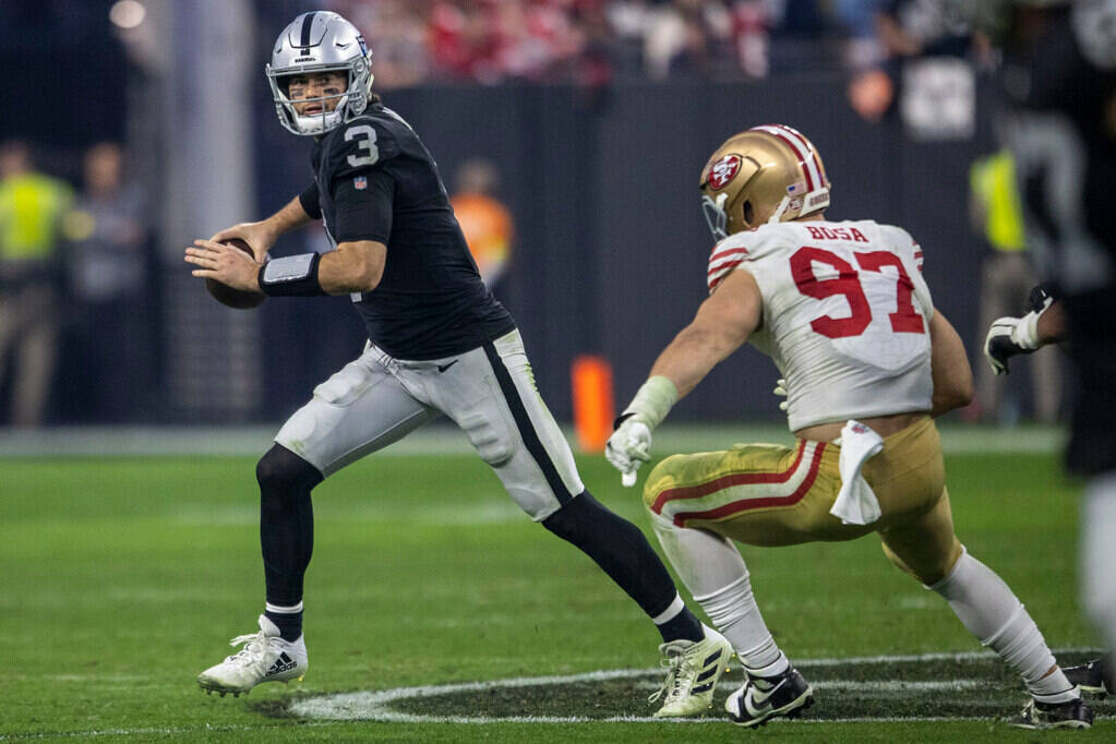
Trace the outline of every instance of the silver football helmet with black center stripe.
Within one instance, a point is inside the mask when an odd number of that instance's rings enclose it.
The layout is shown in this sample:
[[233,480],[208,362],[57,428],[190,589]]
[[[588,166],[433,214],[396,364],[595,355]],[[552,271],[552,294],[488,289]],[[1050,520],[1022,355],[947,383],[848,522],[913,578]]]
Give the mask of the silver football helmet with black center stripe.
[[[279,123],[295,134],[319,135],[359,116],[372,97],[371,61],[372,50],[360,31],[337,13],[317,10],[296,18],[279,35],[271,64],[264,68]],[[320,113],[299,116],[287,93],[290,76],[329,70],[346,74],[345,93],[299,102],[321,104]],[[337,106],[326,110],[326,102],[333,99]]]

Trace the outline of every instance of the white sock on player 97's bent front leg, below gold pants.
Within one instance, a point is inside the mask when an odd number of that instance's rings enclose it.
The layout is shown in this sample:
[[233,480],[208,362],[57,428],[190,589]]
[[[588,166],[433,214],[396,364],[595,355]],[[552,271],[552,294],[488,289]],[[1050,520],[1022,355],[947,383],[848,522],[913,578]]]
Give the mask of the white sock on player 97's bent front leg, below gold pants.
[[748,567],[728,538],[652,514],[658,542],[682,582],[713,626],[758,676],[770,677],[790,666],[763,622],[752,595]]

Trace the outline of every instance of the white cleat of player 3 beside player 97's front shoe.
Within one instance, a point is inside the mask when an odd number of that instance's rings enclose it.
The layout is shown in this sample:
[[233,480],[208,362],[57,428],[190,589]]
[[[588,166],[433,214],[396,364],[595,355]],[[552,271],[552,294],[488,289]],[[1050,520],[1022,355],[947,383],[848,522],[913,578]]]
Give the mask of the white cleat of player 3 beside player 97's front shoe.
[[658,647],[661,664],[670,670],[663,686],[647,698],[650,703],[664,698],[656,718],[692,716],[713,705],[713,689],[729,668],[733,651],[724,636],[712,628],[704,630],[705,638],[700,641],[672,640]]

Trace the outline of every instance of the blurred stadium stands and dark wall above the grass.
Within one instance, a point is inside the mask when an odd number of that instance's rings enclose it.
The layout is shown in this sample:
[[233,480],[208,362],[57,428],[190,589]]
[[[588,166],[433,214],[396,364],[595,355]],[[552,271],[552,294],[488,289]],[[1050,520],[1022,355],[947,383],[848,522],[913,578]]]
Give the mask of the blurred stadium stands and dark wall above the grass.
[[[970,165],[994,149],[993,57],[951,4],[6,0],[0,141],[29,145],[77,201],[52,253],[60,312],[41,413],[17,416],[9,355],[0,423],[270,426],[356,356],[363,329],[345,298],[229,310],[182,262],[194,238],[269,214],[310,177],[310,143],[277,125],[263,64],[278,31],[315,8],[364,30],[375,87],[451,192],[483,166],[492,209],[506,210],[489,228],[503,263],[494,292],[559,421],[573,417],[576,357],[604,355],[625,397],[689,320],[711,247],[698,175],[728,135],[764,122],[818,145],[834,219],[895,222],[921,240],[936,305],[983,365],[987,248],[968,193]],[[124,170],[98,202],[89,153],[106,142]],[[275,252],[325,248],[309,230]],[[675,418],[775,423],[773,378],[759,355],[738,355]]]

